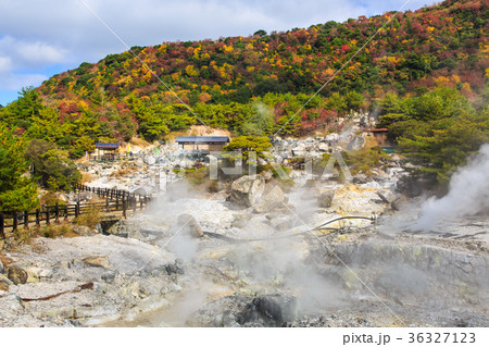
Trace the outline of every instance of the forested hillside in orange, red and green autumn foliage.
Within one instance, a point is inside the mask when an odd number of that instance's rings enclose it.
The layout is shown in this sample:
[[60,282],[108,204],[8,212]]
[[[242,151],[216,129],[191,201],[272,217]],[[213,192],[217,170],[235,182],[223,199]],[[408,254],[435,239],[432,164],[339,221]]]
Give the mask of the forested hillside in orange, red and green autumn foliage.
[[[76,158],[99,140],[129,140],[136,134],[163,139],[201,121],[235,135],[268,135],[299,112],[280,132],[296,136],[324,129],[338,115],[359,110],[390,113],[386,126],[413,117],[424,122],[425,113],[432,121],[449,114],[436,113],[446,107],[440,94],[427,94],[436,88],[451,88],[457,100],[465,100],[468,113],[480,114],[487,112],[488,4],[448,0],[415,12],[286,33],[258,30],[249,37],[134,47],[137,58],[130,52],[110,54],[23,90],[0,115],[17,134],[55,142]],[[408,113],[401,119],[383,107],[392,96],[424,95],[412,112],[394,109],[399,116]],[[397,134],[403,135],[399,126]]]

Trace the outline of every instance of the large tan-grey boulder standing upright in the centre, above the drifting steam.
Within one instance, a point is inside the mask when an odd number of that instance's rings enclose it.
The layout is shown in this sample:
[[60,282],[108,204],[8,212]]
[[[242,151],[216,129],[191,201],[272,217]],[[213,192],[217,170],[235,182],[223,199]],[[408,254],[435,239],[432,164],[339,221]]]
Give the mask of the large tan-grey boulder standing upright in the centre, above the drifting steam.
[[241,208],[254,206],[262,197],[265,182],[256,176],[242,176],[233,182],[229,202]]

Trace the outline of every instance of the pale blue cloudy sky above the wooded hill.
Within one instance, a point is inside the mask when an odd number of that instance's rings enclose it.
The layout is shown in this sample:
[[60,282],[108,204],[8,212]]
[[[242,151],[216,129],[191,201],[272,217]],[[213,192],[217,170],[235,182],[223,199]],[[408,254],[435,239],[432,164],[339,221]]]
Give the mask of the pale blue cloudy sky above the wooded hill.
[[[0,0],[0,104],[128,47],[343,22],[432,0]],[[87,8],[88,7],[88,8]],[[90,9],[90,10],[89,10]],[[98,18],[104,21],[111,30]]]

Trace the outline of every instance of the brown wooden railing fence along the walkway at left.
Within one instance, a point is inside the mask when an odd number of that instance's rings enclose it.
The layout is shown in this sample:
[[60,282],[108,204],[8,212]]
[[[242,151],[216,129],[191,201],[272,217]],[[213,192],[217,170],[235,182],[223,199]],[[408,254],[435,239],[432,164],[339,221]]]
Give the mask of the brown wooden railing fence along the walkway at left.
[[61,223],[61,220],[67,221],[70,216],[77,218],[95,209],[105,213],[122,211],[123,216],[127,218],[127,211],[142,210],[151,201],[149,196],[126,190],[76,185],[75,193],[78,193],[78,197],[82,191],[93,193],[104,201],[80,202],[78,199],[76,203],[60,205],[57,202],[54,206],[45,206],[32,211],[0,212],[0,237],[4,239],[7,230],[15,232],[21,225],[29,228],[30,225],[40,227],[41,224]]

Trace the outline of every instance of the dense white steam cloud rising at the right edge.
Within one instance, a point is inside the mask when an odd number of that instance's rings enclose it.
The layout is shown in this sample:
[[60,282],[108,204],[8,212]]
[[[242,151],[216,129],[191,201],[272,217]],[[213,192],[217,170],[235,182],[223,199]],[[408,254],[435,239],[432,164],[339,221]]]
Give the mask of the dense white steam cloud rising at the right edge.
[[444,197],[423,203],[416,230],[429,231],[442,221],[485,211],[489,211],[489,144],[453,174]]

